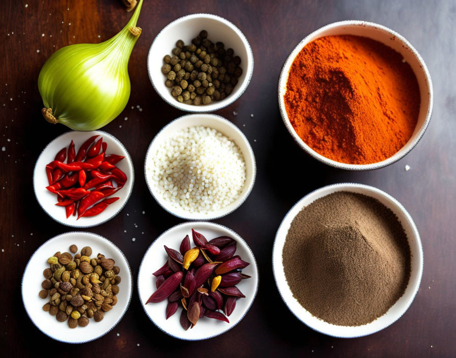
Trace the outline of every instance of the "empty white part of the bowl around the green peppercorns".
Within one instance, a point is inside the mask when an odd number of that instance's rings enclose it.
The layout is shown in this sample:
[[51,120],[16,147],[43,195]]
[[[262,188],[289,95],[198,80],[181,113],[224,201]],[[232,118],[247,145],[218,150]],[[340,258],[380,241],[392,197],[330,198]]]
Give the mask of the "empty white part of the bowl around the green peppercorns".
[[[223,42],[225,48],[231,47],[235,56],[241,57],[242,75],[233,92],[225,99],[195,106],[180,103],[171,95],[170,88],[165,86],[166,76],[161,72],[161,68],[164,65],[163,57],[172,55],[171,51],[176,47],[177,40],[188,45],[202,30],[208,32],[209,40],[214,43]],[[147,69],[155,91],[173,107],[188,112],[214,112],[232,104],[244,93],[253,74],[253,54],[244,34],[230,21],[212,14],[192,14],[174,20],[160,31],[149,50]]]

